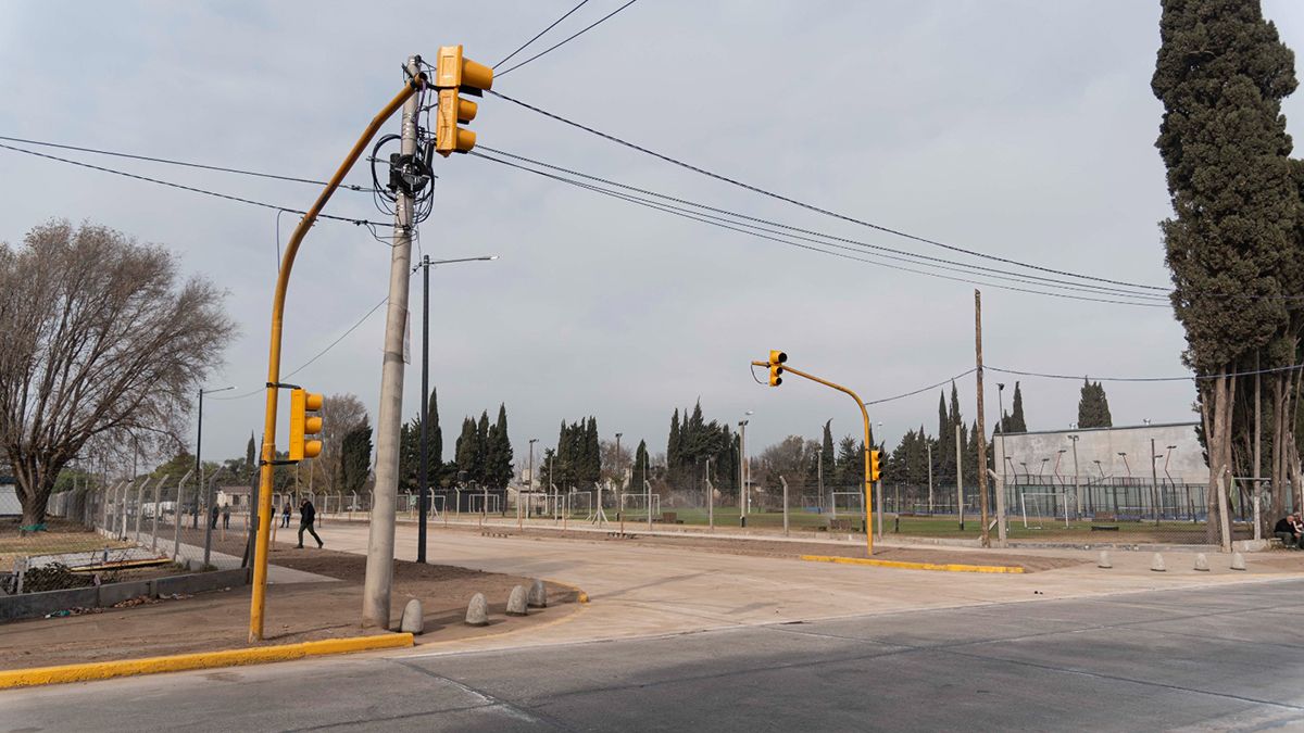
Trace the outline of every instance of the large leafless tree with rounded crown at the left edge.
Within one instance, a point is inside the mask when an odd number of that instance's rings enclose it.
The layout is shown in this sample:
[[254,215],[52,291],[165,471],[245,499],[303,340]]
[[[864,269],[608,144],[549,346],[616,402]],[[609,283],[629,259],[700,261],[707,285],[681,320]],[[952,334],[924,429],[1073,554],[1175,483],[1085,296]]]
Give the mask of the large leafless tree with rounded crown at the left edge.
[[224,293],[173,256],[55,220],[0,244],[0,441],[23,526],[87,443],[180,445],[190,398],[235,334]]

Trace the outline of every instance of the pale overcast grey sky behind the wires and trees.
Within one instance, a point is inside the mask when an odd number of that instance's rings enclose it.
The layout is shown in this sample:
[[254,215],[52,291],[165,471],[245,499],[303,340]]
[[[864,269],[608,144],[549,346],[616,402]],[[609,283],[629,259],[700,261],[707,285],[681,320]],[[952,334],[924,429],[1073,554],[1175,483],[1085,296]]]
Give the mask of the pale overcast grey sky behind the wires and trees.
[[[622,4],[592,0],[536,46]],[[574,3],[7,3],[0,134],[325,179],[400,87],[411,53],[441,44],[494,64]],[[1304,48],[1304,5],[1264,3]],[[1137,0],[690,3],[642,0],[494,90],[755,187],[925,239],[1093,277],[1166,286],[1170,214],[1150,93],[1158,3]],[[1290,129],[1304,95],[1288,99]],[[395,117],[385,130],[396,133]],[[999,262],[815,214],[485,97],[482,146],[785,224],[913,253]],[[29,149],[35,149],[27,146]],[[312,185],[57,153],[291,209]],[[497,254],[430,274],[430,380],[445,459],[464,415],[506,403],[518,459],[562,420],[595,415],[605,440],[665,450],[670,412],[752,411],[750,451],[788,434],[858,434],[836,391],[758,385],[768,350],[862,399],[909,393],[974,365],[974,286],[831,257],[601,197],[467,155],[438,159],[413,257]],[[349,181],[369,184],[359,166]],[[327,213],[385,220],[363,193]],[[226,290],[240,337],[214,353],[205,458],[244,453],[262,424],[276,211],[0,150],[0,241],[51,219],[90,220],[177,253]],[[282,215],[288,237],[295,215]],[[391,250],[319,222],[293,269],[286,370],[386,296]],[[961,274],[958,277],[969,277]],[[1183,376],[1168,308],[983,286],[988,366],[1091,377]],[[412,352],[420,353],[420,278]],[[385,310],[295,376],[353,393],[376,419]],[[998,382],[988,370],[988,428]],[[1029,429],[1076,420],[1080,381],[1020,378]],[[957,381],[966,420],[971,374]],[[949,390],[949,387],[947,387]],[[1009,407],[1012,385],[1004,399]],[[1115,424],[1188,421],[1191,382],[1107,383]],[[936,432],[938,389],[871,407],[895,445]],[[248,395],[248,396],[240,396]],[[239,399],[219,399],[237,396]],[[420,363],[404,412],[420,407]],[[284,411],[283,411],[284,412]],[[282,436],[284,428],[282,426]],[[193,430],[189,438],[193,443]],[[284,440],[279,441],[284,443]]]

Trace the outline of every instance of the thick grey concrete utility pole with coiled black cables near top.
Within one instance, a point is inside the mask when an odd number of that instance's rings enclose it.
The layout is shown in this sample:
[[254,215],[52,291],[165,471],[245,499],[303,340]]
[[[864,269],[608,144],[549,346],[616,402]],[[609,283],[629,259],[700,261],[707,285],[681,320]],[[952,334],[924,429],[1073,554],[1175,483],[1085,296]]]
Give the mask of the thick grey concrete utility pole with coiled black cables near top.
[[[408,73],[421,73],[408,57]],[[417,95],[403,103],[402,154],[416,154]],[[398,190],[394,203],[394,247],[390,248],[390,300],[385,313],[385,355],[381,366],[381,407],[376,419],[376,489],[372,494],[366,578],[363,584],[363,626],[390,627],[394,582],[394,505],[398,494],[399,430],[403,424],[403,335],[407,329],[408,275],[412,270],[412,196]],[[488,509],[488,507],[486,507]]]

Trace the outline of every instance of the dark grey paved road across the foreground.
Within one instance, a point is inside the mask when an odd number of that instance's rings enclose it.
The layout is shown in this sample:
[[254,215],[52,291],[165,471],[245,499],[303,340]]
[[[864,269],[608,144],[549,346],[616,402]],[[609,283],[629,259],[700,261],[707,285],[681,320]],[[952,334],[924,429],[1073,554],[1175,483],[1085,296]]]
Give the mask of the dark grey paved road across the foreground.
[[0,694],[0,730],[1304,728],[1304,580]]

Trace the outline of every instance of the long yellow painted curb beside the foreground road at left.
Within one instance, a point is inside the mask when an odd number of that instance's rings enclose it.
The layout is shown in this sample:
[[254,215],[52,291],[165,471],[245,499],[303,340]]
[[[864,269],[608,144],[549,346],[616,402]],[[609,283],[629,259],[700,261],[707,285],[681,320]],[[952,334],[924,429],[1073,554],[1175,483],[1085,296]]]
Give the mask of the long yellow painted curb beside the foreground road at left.
[[412,634],[378,634],[374,636],[323,639],[319,642],[300,642],[297,644],[279,644],[274,647],[250,647],[248,650],[223,650],[216,652],[154,656],[119,661],[94,661],[87,664],[64,664],[60,666],[9,669],[0,672],[0,690],[8,687],[30,687],[34,685],[87,682],[91,680],[110,680],[112,677],[129,677],[134,674],[155,674],[159,672],[183,672],[186,669],[211,669],[215,666],[288,661],[308,656],[360,652],[368,650],[389,650],[411,646]]

